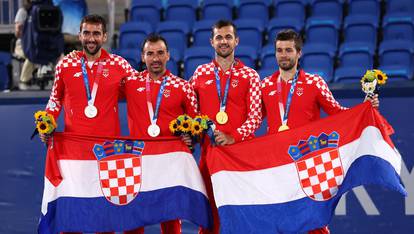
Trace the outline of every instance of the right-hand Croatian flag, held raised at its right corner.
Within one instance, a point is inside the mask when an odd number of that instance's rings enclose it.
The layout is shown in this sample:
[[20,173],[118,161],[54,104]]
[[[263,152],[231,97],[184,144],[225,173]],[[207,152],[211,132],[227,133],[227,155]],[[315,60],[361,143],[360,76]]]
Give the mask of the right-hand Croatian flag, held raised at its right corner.
[[392,127],[369,103],[228,147],[207,163],[221,233],[297,233],[329,224],[341,196],[375,184],[403,195]]

